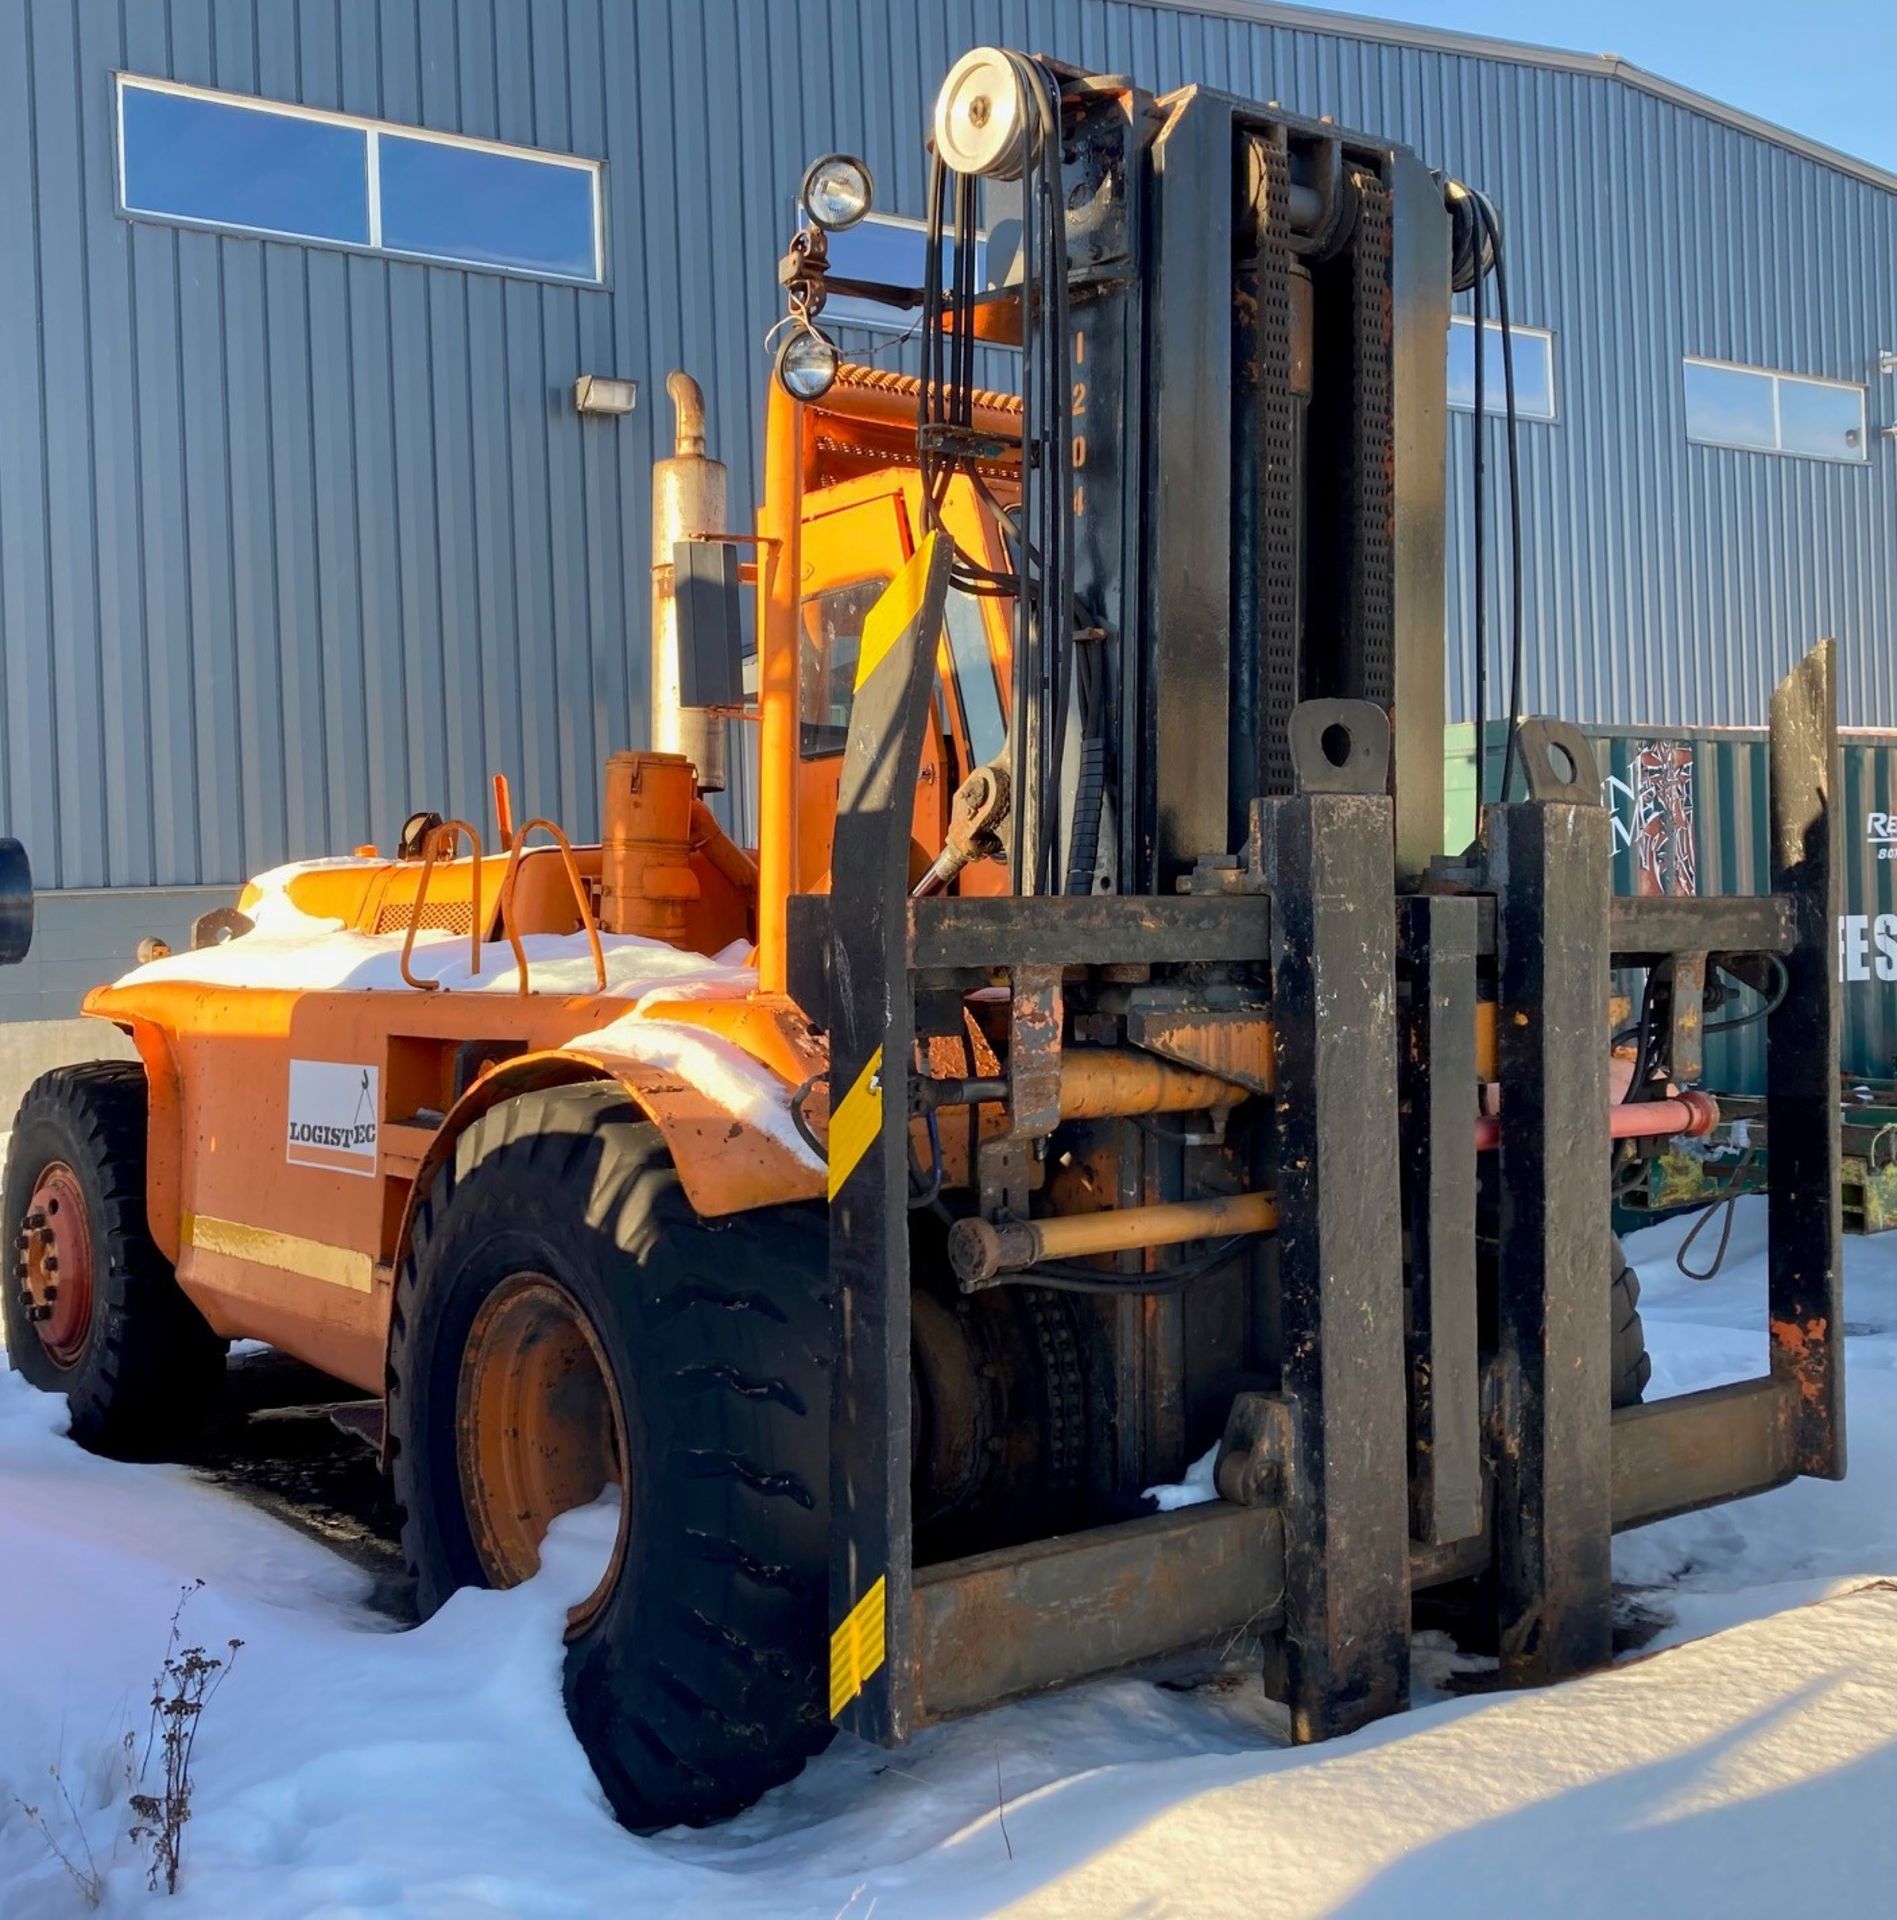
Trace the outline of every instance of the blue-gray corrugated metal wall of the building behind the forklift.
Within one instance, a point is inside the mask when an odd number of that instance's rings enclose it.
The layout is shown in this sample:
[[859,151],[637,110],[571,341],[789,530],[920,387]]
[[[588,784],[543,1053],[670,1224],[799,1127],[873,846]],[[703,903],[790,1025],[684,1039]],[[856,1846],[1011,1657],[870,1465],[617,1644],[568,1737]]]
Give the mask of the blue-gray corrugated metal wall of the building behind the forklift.
[[[1644,77],[1244,0],[13,0],[0,828],[60,891],[0,1014],[69,1010],[198,889],[478,810],[493,768],[589,829],[643,732],[662,376],[707,382],[747,509],[804,161],[862,152],[920,215],[927,102],[983,40],[1333,113],[1498,200],[1517,319],[1555,334],[1559,420],[1521,430],[1532,705],[1757,722],[1834,632],[1847,718],[1897,724],[1897,182]],[[117,69],[599,157],[609,284],[125,219]],[[1688,445],[1684,353],[1862,382],[1868,465]],[[582,420],[582,371],[639,409]],[[1452,538],[1459,624],[1461,507]],[[1452,662],[1467,712],[1453,628]]]

